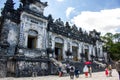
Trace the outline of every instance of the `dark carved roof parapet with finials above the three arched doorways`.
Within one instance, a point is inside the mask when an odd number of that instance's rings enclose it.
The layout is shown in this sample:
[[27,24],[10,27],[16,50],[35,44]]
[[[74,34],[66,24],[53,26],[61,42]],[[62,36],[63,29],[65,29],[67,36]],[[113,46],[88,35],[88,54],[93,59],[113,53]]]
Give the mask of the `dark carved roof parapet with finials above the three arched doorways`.
[[[59,20],[58,20],[59,21]],[[93,39],[89,36],[89,34],[85,31],[83,32],[81,28],[78,28],[73,25],[72,28],[70,28],[70,25],[68,22],[66,22],[66,27],[59,27],[58,24],[55,22],[52,22],[48,25],[48,31],[60,34],[62,36],[66,36],[68,38],[78,40],[78,41],[85,41],[86,43],[92,44]],[[96,39],[95,39],[96,40]]]

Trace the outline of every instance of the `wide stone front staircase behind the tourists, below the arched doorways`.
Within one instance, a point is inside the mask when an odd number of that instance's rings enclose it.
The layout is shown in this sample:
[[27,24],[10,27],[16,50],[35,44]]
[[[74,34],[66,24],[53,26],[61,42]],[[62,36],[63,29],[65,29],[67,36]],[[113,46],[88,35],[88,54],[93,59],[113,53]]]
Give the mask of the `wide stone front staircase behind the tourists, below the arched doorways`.
[[[66,61],[57,61],[54,58],[50,58],[50,61],[54,64],[52,67],[53,70],[55,71],[54,74],[58,74],[58,68],[61,67],[63,74],[67,74],[66,71],[66,64],[68,64],[68,62]],[[75,61],[70,61],[69,65],[73,65],[75,68],[79,69],[80,74],[83,74],[83,67],[85,65],[85,62],[75,62]],[[92,67],[92,72],[100,72],[100,71],[104,71],[106,64],[102,63],[102,62],[98,62],[98,61],[93,61],[92,64],[90,64],[90,66]]]

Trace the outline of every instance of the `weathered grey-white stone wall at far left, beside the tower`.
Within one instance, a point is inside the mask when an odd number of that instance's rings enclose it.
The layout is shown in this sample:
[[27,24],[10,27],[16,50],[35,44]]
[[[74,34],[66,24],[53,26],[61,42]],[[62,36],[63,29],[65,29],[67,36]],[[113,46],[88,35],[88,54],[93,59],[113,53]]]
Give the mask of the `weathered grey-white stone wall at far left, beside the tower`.
[[0,38],[0,77],[7,76],[7,59],[9,56],[14,56],[15,48],[18,43],[19,26],[5,19],[3,23]]

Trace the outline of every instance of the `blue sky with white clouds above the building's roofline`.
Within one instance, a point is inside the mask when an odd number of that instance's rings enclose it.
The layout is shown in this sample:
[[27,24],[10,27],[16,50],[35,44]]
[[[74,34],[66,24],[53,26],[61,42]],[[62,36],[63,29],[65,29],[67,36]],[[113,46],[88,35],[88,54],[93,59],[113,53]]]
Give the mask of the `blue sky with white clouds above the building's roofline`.
[[[0,0],[0,8],[6,0]],[[14,0],[15,8],[18,1]],[[41,0],[48,2],[44,15],[52,14],[54,20],[61,18],[83,30],[93,29],[104,35],[120,32],[120,0]]]

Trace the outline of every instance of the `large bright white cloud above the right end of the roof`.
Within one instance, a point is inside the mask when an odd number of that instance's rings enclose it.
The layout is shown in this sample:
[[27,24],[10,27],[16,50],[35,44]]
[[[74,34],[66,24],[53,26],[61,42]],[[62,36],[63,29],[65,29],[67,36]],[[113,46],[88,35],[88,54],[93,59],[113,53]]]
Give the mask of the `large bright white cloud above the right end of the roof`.
[[100,12],[83,11],[71,21],[88,31],[96,29],[102,34],[115,33],[120,27],[120,8]]

